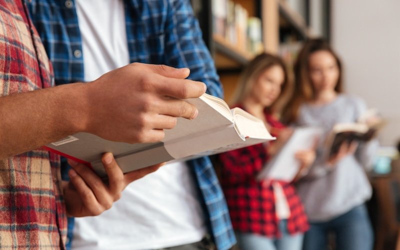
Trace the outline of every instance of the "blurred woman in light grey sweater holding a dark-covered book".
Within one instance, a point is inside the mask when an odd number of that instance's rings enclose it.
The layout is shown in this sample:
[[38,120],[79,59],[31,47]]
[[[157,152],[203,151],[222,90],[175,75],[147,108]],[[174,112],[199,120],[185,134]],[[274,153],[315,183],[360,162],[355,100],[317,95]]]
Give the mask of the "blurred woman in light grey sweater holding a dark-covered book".
[[[366,111],[365,102],[342,93],[342,65],[327,42],[307,41],[294,65],[295,95],[283,112],[285,122],[320,126],[325,136],[338,122],[355,122]],[[372,166],[377,141],[343,143],[326,157],[320,140],[317,157],[296,187],[310,221],[304,250],[326,249],[328,233],[340,250],[372,249],[373,235],[364,202],[371,196],[365,170]]]

